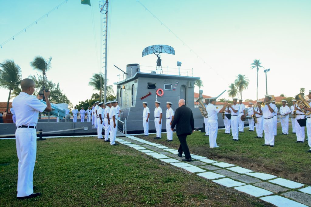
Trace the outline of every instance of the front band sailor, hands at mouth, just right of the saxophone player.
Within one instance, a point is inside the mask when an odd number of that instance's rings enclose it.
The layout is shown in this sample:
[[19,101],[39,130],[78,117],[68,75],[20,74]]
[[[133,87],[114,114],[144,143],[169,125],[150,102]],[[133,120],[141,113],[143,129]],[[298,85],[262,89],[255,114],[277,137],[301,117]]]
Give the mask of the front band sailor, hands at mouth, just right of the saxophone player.
[[[270,102],[271,99],[272,96],[266,95],[264,102]],[[265,132],[265,144],[263,144],[262,146],[274,147],[274,104],[267,103],[263,107],[261,107],[261,110],[263,116],[263,131]]]

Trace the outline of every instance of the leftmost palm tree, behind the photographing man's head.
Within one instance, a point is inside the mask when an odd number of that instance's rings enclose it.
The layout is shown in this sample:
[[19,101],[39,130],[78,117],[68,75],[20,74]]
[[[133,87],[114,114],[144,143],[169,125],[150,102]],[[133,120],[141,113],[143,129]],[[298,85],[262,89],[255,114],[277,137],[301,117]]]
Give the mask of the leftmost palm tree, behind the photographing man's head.
[[13,60],[5,60],[0,64],[0,88],[7,88],[10,90],[9,97],[7,99],[7,110],[9,109],[9,103],[12,90],[18,88],[21,83],[21,68],[15,64]]

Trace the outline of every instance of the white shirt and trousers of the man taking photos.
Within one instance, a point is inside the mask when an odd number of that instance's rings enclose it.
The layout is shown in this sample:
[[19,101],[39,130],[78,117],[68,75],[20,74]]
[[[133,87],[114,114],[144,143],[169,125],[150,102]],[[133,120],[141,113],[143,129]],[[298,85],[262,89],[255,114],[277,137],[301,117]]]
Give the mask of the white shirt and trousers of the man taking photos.
[[[39,111],[46,105],[35,96],[20,92],[12,102],[16,114],[16,127],[37,126]],[[17,197],[29,196],[33,191],[33,172],[36,161],[37,135],[35,128],[17,128],[15,132],[18,157]]]

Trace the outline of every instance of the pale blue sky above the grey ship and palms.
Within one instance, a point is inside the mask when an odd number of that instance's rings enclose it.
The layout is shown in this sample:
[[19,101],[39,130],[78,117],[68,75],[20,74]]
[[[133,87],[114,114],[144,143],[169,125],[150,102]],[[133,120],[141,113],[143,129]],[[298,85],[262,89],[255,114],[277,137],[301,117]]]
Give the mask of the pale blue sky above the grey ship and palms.
[[[64,2],[0,0],[0,44]],[[153,15],[139,3],[141,2]],[[156,56],[142,57],[145,47],[164,44],[175,55],[162,54],[163,72],[200,77],[203,94],[218,96],[238,74],[249,79],[243,99],[256,100],[254,59],[270,68],[268,94],[295,96],[311,89],[311,1],[309,0],[109,0],[108,85],[118,82],[117,65],[139,63],[142,72],[155,70]],[[157,20],[159,19],[159,20]],[[74,104],[90,99],[89,79],[102,69],[102,24],[99,1],[82,5],[68,0],[58,9],[14,37],[0,49],[0,62],[13,59],[22,77],[36,74],[30,62],[35,56],[52,57],[47,78]],[[162,23],[162,24],[161,24]],[[165,25],[167,27],[165,27]],[[169,29],[168,29],[169,28]],[[13,39],[13,38],[11,38]],[[258,98],[266,94],[264,69],[258,72]],[[122,79],[122,74],[120,75]],[[116,92],[116,87],[114,86]],[[195,92],[198,92],[195,88]],[[0,101],[9,91],[0,89]],[[225,92],[220,98],[229,98]]]

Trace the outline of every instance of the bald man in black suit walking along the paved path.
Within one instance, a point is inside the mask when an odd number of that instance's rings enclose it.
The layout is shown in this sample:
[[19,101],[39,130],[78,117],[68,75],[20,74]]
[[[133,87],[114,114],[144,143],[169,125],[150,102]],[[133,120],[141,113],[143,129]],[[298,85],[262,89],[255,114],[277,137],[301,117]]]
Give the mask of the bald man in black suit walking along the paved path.
[[180,142],[178,149],[178,156],[182,157],[183,153],[185,158],[183,161],[192,161],[189,148],[186,142],[187,135],[190,135],[194,131],[194,119],[192,110],[185,106],[185,100],[180,99],[178,102],[179,107],[175,111],[174,121],[171,125],[172,131],[176,125],[176,134]]

